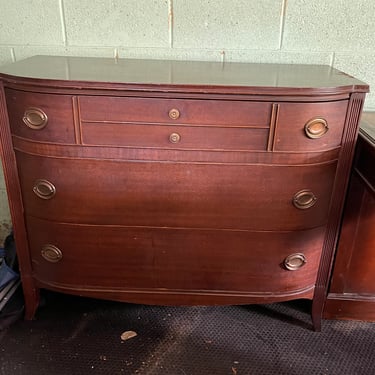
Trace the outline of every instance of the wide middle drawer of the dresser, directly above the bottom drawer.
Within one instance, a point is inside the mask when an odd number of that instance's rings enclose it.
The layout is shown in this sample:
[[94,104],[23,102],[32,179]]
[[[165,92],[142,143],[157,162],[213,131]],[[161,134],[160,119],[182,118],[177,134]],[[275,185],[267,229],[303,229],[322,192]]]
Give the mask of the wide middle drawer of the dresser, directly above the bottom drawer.
[[27,214],[152,227],[321,226],[336,171],[335,161],[305,166],[189,164],[56,159],[20,152],[17,159]]

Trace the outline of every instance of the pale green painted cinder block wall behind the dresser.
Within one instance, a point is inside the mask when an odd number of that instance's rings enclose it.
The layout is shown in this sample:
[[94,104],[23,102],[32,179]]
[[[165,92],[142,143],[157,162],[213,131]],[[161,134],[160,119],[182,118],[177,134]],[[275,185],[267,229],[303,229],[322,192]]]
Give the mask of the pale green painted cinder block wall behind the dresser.
[[[0,0],[0,65],[35,54],[328,64],[375,87],[374,15],[374,0]],[[0,244],[9,226],[0,176]]]

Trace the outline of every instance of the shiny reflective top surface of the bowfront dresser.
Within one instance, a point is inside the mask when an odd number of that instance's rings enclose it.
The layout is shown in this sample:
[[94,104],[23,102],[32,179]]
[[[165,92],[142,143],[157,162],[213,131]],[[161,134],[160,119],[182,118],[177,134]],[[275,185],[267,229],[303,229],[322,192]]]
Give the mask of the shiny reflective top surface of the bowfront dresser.
[[[0,67],[0,77],[185,88],[264,88],[291,92],[367,92],[368,85],[325,65],[219,63],[91,57],[34,56]],[[104,86],[103,86],[104,87]],[[249,90],[251,91],[251,90]],[[301,94],[301,93],[299,93]]]

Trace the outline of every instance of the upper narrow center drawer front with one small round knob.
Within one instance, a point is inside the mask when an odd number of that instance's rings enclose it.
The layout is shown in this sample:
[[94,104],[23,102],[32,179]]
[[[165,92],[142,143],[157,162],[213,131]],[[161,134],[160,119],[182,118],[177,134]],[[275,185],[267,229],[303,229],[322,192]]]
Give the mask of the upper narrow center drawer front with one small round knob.
[[229,100],[188,100],[82,96],[82,122],[196,124],[269,127],[271,104]]

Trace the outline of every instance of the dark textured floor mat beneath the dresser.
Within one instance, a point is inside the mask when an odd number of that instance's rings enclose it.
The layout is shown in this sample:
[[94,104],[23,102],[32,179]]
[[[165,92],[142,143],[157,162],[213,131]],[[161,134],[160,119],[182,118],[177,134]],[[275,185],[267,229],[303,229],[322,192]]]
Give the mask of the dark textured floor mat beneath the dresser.
[[[0,331],[0,373],[375,374],[375,324],[323,321],[307,301],[161,307],[45,293],[35,321]],[[125,331],[137,336],[123,341]]]

